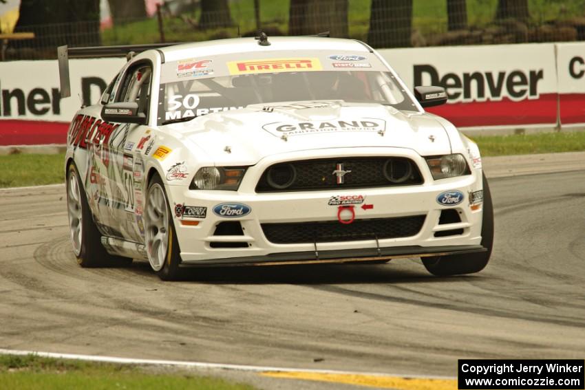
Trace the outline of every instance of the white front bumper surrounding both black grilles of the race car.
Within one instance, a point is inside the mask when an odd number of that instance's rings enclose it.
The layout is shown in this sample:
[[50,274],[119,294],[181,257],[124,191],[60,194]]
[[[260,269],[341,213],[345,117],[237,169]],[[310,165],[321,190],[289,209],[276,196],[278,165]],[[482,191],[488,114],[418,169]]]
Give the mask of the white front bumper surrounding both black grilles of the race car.
[[[389,150],[390,149],[390,150]],[[348,151],[327,149],[319,158],[347,155]],[[469,193],[482,189],[482,173],[474,169],[471,175],[434,181],[426,168],[424,158],[410,149],[356,148],[352,155],[393,155],[411,158],[418,164],[425,180],[416,186],[387,188],[344,189],[333,191],[299,191],[289,193],[255,193],[257,179],[264,169],[275,162],[316,158],[317,156],[290,153],[270,156],[251,166],[239,191],[190,191],[184,186],[167,186],[171,208],[173,204],[206,207],[206,217],[190,219],[198,221],[197,226],[182,224],[181,217],[175,217],[175,231],[181,250],[182,265],[205,264],[251,264],[251,263],[296,263],[296,262],[339,262],[359,259],[390,259],[393,257],[420,257],[446,254],[460,250],[482,250],[481,221],[482,209],[472,209]],[[437,202],[437,196],[445,191],[461,191],[465,199],[455,206]],[[373,208],[354,205],[355,219],[379,219],[425,215],[421,230],[410,237],[357,241],[323,242],[319,237],[310,243],[270,242],[262,230],[262,224],[337,221],[338,206],[329,206],[331,197],[339,195],[361,195],[363,204]],[[226,218],[213,213],[213,208],[222,203],[245,204],[250,213],[242,217]],[[442,210],[454,209],[460,222],[439,224]],[[236,221],[242,226],[241,235],[214,235],[217,224]],[[458,230],[460,234],[436,237],[436,232]],[[226,248],[237,243],[240,248]],[[372,260],[376,260],[372,259]]]

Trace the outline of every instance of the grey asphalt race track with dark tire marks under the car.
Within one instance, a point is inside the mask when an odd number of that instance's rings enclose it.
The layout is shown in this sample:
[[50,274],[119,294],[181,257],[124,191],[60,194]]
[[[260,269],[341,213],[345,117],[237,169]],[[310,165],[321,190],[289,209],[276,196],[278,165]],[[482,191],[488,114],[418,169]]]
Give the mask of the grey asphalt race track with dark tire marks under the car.
[[[489,171],[488,171],[489,175]],[[82,269],[63,186],[0,191],[0,348],[456,376],[458,358],[583,358],[585,171],[491,180],[489,266]]]

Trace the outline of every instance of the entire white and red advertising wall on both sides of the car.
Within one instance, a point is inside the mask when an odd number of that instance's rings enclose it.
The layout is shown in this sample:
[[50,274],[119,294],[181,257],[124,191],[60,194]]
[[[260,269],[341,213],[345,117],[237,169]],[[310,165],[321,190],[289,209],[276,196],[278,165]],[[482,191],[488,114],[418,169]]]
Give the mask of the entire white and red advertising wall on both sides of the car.
[[[585,43],[383,49],[407,87],[440,85],[431,107],[464,129],[585,125]],[[59,97],[57,61],[0,63],[0,145],[64,144],[76,110],[95,103],[123,58],[70,61],[72,96]]]

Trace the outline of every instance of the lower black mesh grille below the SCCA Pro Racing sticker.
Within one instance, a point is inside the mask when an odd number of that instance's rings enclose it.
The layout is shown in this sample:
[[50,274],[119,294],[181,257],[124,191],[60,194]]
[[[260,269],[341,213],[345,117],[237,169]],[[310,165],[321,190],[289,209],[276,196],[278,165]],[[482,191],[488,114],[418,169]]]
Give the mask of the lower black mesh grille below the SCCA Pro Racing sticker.
[[262,224],[272,243],[314,243],[390,239],[416,235],[423,228],[425,215],[411,217],[356,219],[344,225],[339,221]]

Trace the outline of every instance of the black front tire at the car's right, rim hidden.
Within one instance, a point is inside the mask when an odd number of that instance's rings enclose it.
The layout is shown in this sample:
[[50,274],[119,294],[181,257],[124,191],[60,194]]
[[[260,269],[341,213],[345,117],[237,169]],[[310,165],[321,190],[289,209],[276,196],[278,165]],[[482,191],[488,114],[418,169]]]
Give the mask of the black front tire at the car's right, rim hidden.
[[493,205],[487,178],[482,175],[483,182],[483,215],[481,228],[481,245],[487,252],[471,254],[451,254],[449,256],[423,257],[427,271],[437,277],[460,274],[474,274],[487,266],[493,248]]

